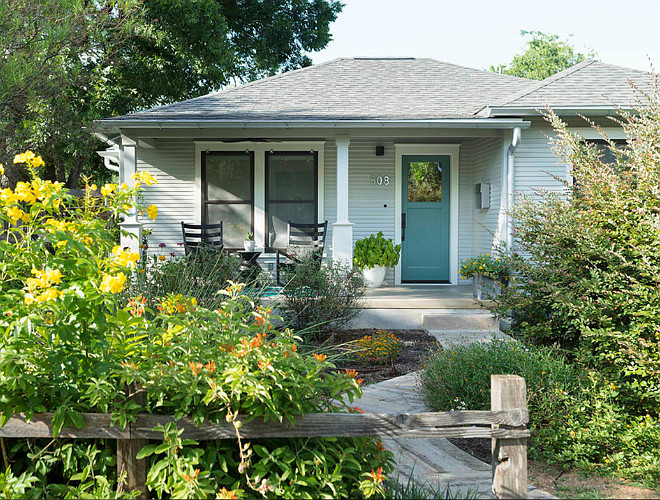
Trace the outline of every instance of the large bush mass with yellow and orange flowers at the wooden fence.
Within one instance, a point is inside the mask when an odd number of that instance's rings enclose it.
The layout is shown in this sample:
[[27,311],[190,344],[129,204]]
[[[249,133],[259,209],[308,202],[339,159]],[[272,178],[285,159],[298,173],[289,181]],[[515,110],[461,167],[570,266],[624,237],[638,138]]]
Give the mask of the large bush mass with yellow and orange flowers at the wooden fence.
[[[300,339],[276,328],[242,284],[222,289],[215,309],[178,292],[155,306],[127,297],[140,256],[119,248],[106,225],[139,210],[141,187],[114,186],[101,198],[92,188],[77,199],[34,178],[0,192],[0,426],[17,414],[29,421],[52,412],[57,438],[0,438],[0,492],[135,497],[117,477],[114,441],[59,437],[83,427],[83,413],[109,413],[120,429],[138,412],[238,429],[352,411],[361,394],[355,374],[302,354]],[[372,438],[197,443],[180,439],[176,424],[158,430],[163,441],[139,454],[157,498],[382,497],[392,470],[392,454]]]

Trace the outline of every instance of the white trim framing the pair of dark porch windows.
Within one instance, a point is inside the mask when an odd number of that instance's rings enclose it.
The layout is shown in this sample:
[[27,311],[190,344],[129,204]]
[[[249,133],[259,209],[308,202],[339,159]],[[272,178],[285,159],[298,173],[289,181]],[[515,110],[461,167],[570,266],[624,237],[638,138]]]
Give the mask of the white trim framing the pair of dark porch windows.
[[263,250],[266,242],[266,152],[267,151],[310,151],[318,153],[318,221],[325,220],[324,165],[325,141],[282,141],[282,142],[222,142],[194,141],[195,143],[195,223],[202,218],[202,152],[205,151],[251,151],[254,152],[254,239],[257,248]]

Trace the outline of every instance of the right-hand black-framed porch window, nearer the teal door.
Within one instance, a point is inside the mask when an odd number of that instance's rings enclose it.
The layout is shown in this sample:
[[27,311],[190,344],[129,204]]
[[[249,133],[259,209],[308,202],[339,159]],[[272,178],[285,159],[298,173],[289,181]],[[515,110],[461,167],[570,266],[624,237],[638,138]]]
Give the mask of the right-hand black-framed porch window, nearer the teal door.
[[318,153],[267,151],[266,246],[287,246],[289,222],[317,220]]

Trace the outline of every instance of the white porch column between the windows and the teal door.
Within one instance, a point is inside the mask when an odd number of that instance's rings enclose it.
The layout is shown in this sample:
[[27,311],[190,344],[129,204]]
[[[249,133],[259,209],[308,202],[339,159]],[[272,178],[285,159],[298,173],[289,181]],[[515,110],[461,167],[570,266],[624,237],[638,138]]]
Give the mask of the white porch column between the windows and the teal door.
[[338,135],[337,144],[337,221],[332,225],[332,259],[353,265],[353,224],[348,220],[348,146],[351,139]]

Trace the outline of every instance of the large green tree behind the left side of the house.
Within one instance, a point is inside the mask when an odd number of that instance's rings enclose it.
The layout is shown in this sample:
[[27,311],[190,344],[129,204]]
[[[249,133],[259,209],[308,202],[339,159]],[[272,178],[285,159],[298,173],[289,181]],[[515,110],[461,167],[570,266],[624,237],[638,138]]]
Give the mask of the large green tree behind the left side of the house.
[[[0,163],[37,150],[47,178],[105,174],[83,128],[311,64],[336,0],[3,0]],[[99,179],[100,180],[100,179]]]

